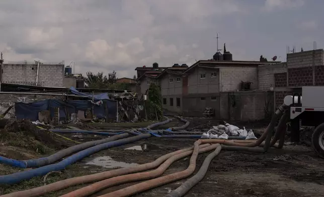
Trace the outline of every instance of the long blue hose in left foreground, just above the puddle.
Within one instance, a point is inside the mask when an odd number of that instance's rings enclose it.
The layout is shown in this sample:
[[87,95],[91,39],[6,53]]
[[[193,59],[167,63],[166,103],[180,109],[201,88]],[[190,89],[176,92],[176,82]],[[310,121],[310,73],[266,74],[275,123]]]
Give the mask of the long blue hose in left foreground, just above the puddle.
[[113,142],[100,144],[100,145],[85,149],[83,151],[80,151],[78,153],[75,153],[75,154],[65,158],[64,160],[62,160],[58,163],[55,163],[55,164],[50,164],[50,165],[46,165],[46,166],[39,167],[36,169],[27,170],[27,171],[16,172],[13,174],[2,175],[2,176],[0,176],[0,185],[1,184],[15,184],[15,183],[19,183],[23,180],[31,179],[34,176],[43,176],[51,171],[63,170],[63,169],[65,169],[66,166],[68,166],[78,160],[81,160],[84,157],[87,157],[91,154],[99,152],[101,150],[111,148],[111,147],[121,146],[124,144],[135,142],[135,141],[138,141],[141,139],[146,139],[149,137],[151,137],[151,134],[147,133],[147,134],[141,134],[141,135],[137,135],[137,136],[126,138],[126,139],[121,139],[121,140],[116,140]]

